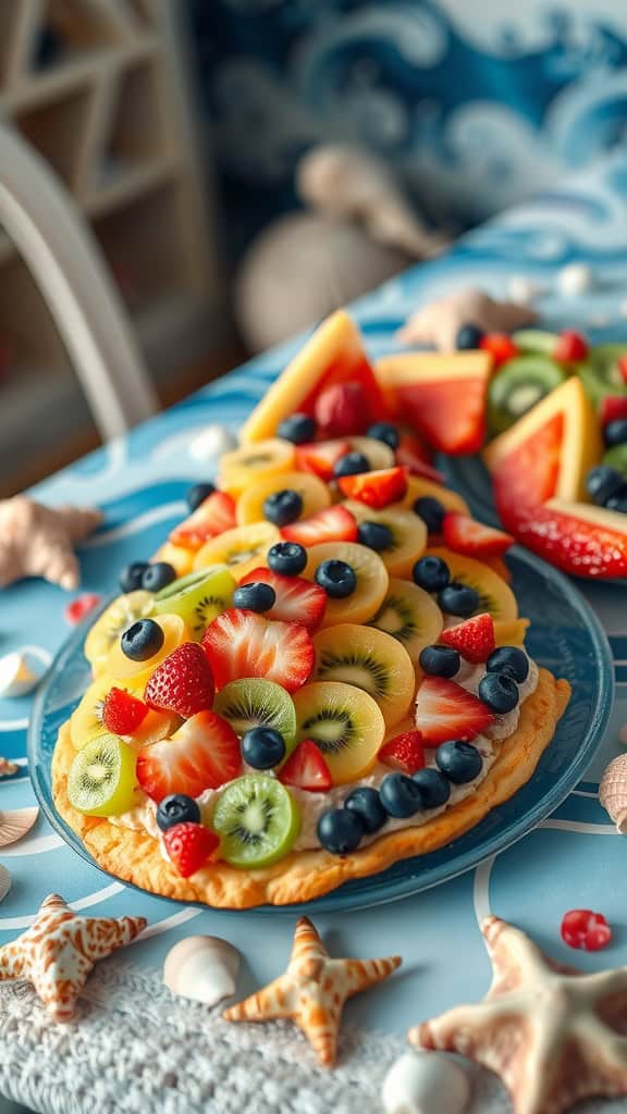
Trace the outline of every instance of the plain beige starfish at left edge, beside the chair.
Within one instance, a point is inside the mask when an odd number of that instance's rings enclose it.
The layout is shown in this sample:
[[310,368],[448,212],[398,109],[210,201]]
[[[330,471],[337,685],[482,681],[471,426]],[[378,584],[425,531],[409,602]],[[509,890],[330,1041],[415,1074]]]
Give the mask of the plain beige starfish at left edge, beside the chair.
[[102,520],[91,507],[45,507],[26,496],[0,501],[0,588],[25,576],[78,587],[74,546]]

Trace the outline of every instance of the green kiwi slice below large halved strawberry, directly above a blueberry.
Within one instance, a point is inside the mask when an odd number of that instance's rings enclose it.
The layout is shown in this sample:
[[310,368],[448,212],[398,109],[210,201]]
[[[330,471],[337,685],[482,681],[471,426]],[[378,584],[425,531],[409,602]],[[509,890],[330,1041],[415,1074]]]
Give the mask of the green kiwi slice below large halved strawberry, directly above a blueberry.
[[237,735],[253,727],[273,727],[283,736],[288,754],[296,745],[296,709],[288,692],[263,677],[242,677],[224,685],[213,705]]

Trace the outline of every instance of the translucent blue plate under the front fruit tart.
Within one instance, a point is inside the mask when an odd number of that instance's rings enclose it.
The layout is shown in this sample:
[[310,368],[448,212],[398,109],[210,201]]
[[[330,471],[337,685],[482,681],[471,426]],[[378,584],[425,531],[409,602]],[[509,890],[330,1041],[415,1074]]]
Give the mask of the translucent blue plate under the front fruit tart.
[[[364,909],[445,882],[530,832],[583,776],[601,742],[614,698],[606,636],[586,600],[560,573],[519,547],[511,550],[508,560],[520,613],[532,620],[527,641],[531,656],[572,686],[570,704],[533,778],[450,847],[348,882],[325,898],[297,907],[300,911]],[[90,856],[52,807],[51,760],[57,732],[89,682],[83,647],[93,620],[90,616],[77,628],[55,659],[39,690],[28,739],[29,770],[41,808],[52,828],[88,862],[93,862]],[[287,912],[295,907],[266,907],[262,911]]]

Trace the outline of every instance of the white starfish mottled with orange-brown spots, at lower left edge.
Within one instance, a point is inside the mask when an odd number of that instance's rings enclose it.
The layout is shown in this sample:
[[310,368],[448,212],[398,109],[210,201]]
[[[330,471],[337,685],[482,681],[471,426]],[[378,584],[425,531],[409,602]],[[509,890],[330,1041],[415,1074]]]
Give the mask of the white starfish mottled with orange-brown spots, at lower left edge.
[[131,944],[144,917],[80,917],[50,893],[32,925],[0,948],[0,981],[32,983],[56,1022],[69,1022],[76,999],[98,959]]

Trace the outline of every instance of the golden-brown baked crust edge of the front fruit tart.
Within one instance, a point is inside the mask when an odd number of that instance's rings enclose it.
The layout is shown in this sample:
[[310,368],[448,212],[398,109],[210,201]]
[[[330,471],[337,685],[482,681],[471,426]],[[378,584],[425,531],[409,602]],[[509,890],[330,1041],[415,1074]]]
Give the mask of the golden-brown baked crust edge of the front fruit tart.
[[192,878],[181,878],[164,859],[157,840],[147,832],[120,828],[99,817],[85,817],[71,807],[67,774],[76,751],[67,723],[59,732],[52,761],[55,804],[103,870],[141,889],[225,909],[310,901],[353,878],[376,874],[399,859],[444,847],[474,828],[532,776],[569,696],[567,681],[557,681],[547,670],[540,670],[538,687],[521,707],[517,731],[500,744],[496,760],[473,793],[425,824],[382,836],[363,850],[344,857],[320,848],[292,852],[259,870],[238,870],[218,862],[196,871]]

